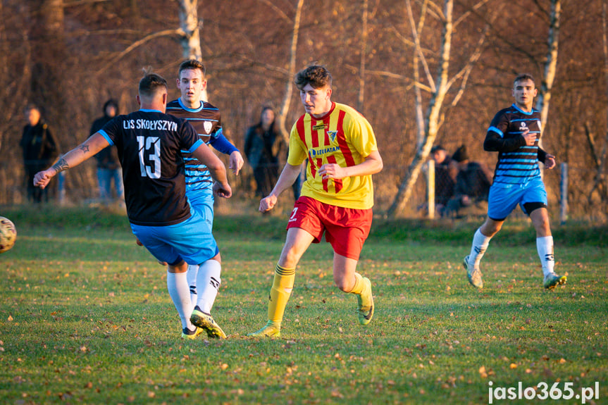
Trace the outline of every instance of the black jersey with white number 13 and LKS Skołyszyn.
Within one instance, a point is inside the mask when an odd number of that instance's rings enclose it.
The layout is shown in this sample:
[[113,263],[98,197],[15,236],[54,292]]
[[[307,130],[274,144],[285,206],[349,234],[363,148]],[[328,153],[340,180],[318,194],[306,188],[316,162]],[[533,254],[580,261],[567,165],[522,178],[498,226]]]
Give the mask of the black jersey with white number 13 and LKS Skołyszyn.
[[130,223],[165,226],[190,218],[182,151],[202,145],[190,123],[139,110],[116,116],[99,133],[118,150]]

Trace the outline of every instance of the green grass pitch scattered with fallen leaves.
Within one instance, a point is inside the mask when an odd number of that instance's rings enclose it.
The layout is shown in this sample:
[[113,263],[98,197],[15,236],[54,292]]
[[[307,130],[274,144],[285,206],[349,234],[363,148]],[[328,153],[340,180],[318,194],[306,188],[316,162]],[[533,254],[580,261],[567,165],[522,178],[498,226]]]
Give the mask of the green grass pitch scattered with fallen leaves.
[[490,390],[500,398],[519,382],[572,397],[493,402],[581,404],[590,387],[587,404],[608,404],[606,225],[554,225],[568,283],[545,291],[531,225],[507,223],[477,291],[461,260],[478,222],[376,220],[359,262],[373,282],[372,323],[360,326],[355,297],[333,286],[322,243],[299,264],[282,338],[256,340],[246,335],[266,323],[285,220],[218,216],[213,315],[229,339],[185,342],[166,270],[135,245],[125,216],[0,216],[18,228],[0,255],[2,404],[487,404]]

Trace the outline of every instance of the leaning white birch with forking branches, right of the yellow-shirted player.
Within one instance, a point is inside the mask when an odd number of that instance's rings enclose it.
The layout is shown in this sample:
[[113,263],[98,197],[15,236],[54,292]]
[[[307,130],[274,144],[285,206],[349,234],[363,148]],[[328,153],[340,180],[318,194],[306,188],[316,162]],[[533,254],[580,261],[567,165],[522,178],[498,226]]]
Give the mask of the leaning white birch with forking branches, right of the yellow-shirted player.
[[[471,10],[476,11],[486,3],[488,3],[488,0],[479,1]],[[455,106],[458,104],[459,100],[461,99],[461,95],[466,88],[466,83],[469,79],[473,66],[475,66],[476,62],[481,56],[485,38],[489,29],[488,23],[485,25],[484,30],[478,38],[475,49],[469,55],[469,58],[466,63],[464,63],[464,66],[462,66],[452,77],[449,77],[449,65],[452,52],[452,34],[454,32],[454,1],[445,0],[443,2],[443,7],[440,8],[437,4],[433,3],[433,1],[423,0],[421,2],[421,11],[418,23],[416,23],[414,20],[414,11],[411,8],[410,0],[406,0],[406,6],[407,18],[411,27],[411,35],[414,39],[413,77],[415,87],[414,91],[416,93],[416,128],[418,142],[416,145],[416,154],[414,155],[414,160],[410,163],[406,173],[404,173],[403,180],[397,189],[395,199],[393,200],[390,208],[387,210],[388,218],[395,218],[397,213],[403,211],[404,206],[407,204],[407,201],[409,201],[416,180],[418,180],[418,175],[421,172],[422,165],[426,161],[426,158],[428,158],[430,149],[433,147],[433,142],[435,142],[435,138],[437,137],[438,130],[440,129],[445,118],[445,102],[449,90],[456,85],[457,82],[460,83],[460,88],[455,96],[452,97],[452,101],[450,103],[452,106]],[[423,51],[420,36],[426,23],[426,17],[429,13],[438,15],[442,23],[442,32],[440,37],[441,42],[440,49],[438,51],[438,73],[435,76],[433,76],[431,73],[425,51]],[[457,20],[457,23],[461,23],[465,18],[469,17],[469,15],[470,12],[464,13],[464,15]],[[496,15],[496,11],[493,13],[493,15]],[[426,80],[426,83],[423,82],[423,80]],[[426,107],[426,115],[423,113],[423,91],[430,94],[430,100],[428,101],[428,106]]]

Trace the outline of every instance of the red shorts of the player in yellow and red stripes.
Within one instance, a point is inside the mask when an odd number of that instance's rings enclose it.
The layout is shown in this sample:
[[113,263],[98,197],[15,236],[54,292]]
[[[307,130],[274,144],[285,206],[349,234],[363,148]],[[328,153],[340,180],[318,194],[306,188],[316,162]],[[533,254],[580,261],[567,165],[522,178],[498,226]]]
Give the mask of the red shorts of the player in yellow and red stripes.
[[335,253],[359,260],[365,239],[369,235],[373,213],[369,209],[344,208],[322,203],[310,197],[300,197],[287,229],[302,228],[313,235],[314,243],[325,240],[331,244]]

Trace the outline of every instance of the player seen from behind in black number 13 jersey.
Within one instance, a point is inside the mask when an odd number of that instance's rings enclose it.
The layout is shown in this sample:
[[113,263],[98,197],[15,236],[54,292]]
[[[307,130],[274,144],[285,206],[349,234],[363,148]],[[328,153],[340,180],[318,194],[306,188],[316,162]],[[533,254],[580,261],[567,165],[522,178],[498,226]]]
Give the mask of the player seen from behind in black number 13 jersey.
[[168,263],[167,287],[182,321],[182,337],[192,338],[209,320],[194,318],[194,303],[186,278],[188,263],[200,264],[218,254],[210,225],[186,198],[182,150],[203,162],[216,182],[213,191],[228,198],[224,164],[199,139],[186,120],[166,114],[168,88],[163,77],[147,73],[139,81],[141,107],[117,116],[51,168],[35,175],[34,184],[46,187],[51,178],[73,168],[110,145],[116,145],[123,167],[125,203],[132,232],[150,253]]

